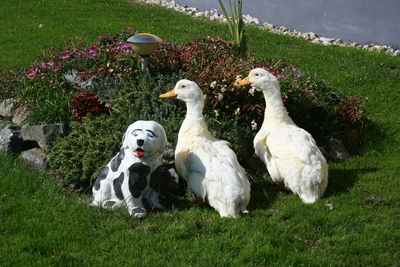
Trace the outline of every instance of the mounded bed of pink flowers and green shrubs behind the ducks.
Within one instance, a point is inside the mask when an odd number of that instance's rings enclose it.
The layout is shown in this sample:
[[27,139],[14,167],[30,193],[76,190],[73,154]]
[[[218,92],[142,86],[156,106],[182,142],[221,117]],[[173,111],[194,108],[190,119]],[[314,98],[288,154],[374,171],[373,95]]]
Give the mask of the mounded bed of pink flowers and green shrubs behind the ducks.
[[138,58],[126,42],[134,33],[127,28],[90,46],[51,50],[43,62],[0,81],[0,99],[27,105],[28,121],[70,124],[71,134],[50,152],[50,165],[66,184],[89,184],[135,120],[160,122],[174,144],[185,108],[158,95],[181,78],[200,85],[211,132],[230,141],[244,164],[263,120],[264,99],[254,88],[233,83],[254,67],[276,75],[290,116],[328,154],[332,140],[337,144],[349,133],[359,134],[366,119],[362,98],[343,95],[283,59],[242,59],[234,44],[218,38],[162,43],[150,58],[150,78],[138,71]]

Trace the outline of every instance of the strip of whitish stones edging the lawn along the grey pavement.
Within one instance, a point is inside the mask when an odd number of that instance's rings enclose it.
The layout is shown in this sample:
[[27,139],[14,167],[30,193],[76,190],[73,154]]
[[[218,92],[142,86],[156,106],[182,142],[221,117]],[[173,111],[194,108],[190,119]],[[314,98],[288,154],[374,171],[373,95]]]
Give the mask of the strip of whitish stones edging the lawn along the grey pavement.
[[[148,4],[156,4],[156,5],[164,6],[169,9],[175,10],[177,12],[181,12],[181,13],[190,15],[192,17],[205,17],[212,21],[226,23],[225,17],[221,14],[218,14],[216,9],[213,9],[210,11],[200,11],[198,8],[182,6],[178,3],[175,3],[175,1],[168,1],[168,0],[141,0],[141,1],[144,3],[148,3]],[[313,32],[302,33],[297,30],[287,29],[285,26],[277,27],[270,23],[260,23],[260,21],[257,18],[253,18],[250,15],[243,15],[243,20],[244,20],[245,24],[254,25],[254,26],[259,27],[260,29],[268,30],[270,32],[277,33],[277,34],[283,34],[283,35],[289,35],[289,36],[294,36],[294,37],[298,37],[298,38],[303,38],[312,43],[317,43],[317,44],[322,44],[322,45],[354,47],[357,49],[387,53],[392,56],[400,56],[400,49],[393,48],[392,46],[389,46],[389,45],[360,44],[360,43],[356,43],[356,42],[345,42],[341,39],[320,37]]]

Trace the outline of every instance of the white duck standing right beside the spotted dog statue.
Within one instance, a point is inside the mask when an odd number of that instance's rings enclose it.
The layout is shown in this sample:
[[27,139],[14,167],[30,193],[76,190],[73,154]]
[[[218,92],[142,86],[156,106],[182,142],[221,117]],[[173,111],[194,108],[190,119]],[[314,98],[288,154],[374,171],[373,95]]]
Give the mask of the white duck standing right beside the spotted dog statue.
[[194,194],[207,199],[221,217],[237,218],[250,200],[245,170],[226,141],[214,138],[203,118],[204,96],[199,86],[180,80],[161,98],[176,97],[186,103],[187,113],[178,134],[175,165]]

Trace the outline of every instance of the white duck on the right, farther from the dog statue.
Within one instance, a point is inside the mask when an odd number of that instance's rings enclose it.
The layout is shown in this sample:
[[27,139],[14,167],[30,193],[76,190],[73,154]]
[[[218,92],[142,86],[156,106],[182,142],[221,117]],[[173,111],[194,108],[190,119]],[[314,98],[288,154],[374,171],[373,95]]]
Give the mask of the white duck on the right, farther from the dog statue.
[[299,128],[283,105],[277,78],[253,69],[237,85],[251,84],[264,93],[265,114],[254,138],[256,155],[266,164],[274,182],[284,182],[304,203],[314,203],[328,184],[328,164],[313,137]]

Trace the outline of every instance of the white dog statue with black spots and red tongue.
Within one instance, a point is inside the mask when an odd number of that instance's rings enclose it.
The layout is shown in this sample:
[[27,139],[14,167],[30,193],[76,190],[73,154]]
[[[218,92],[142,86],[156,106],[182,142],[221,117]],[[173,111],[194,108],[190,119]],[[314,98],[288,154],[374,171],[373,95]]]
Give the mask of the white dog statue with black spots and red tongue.
[[164,209],[157,189],[167,136],[155,121],[136,121],[126,130],[119,153],[101,171],[93,185],[91,206],[115,209],[125,205],[130,215],[143,218],[152,208]]

